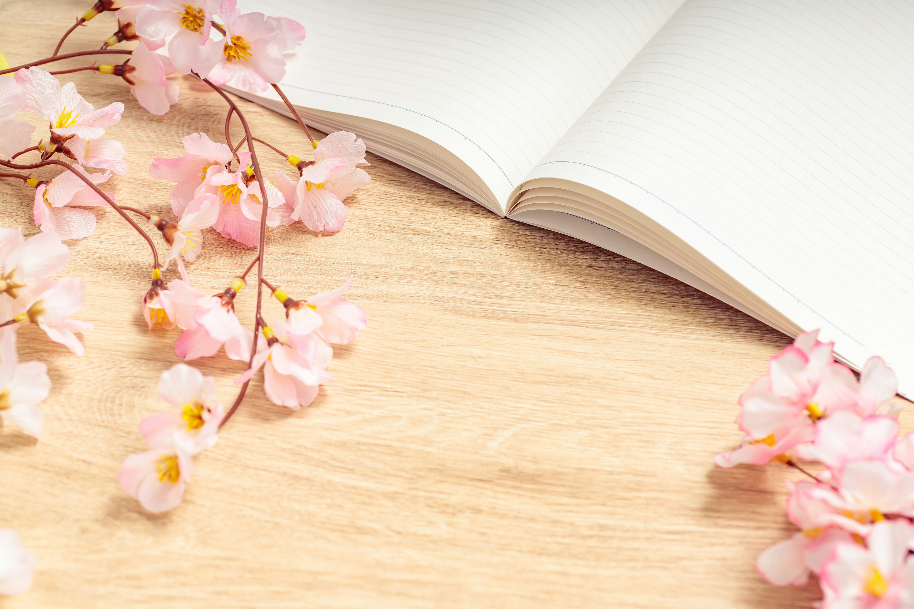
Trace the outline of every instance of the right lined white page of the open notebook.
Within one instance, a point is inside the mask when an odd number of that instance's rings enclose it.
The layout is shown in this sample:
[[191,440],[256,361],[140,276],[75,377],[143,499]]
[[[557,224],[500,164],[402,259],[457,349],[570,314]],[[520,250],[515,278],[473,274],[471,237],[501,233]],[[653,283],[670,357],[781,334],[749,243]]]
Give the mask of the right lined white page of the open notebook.
[[528,179],[649,215],[914,390],[914,4],[689,0]]

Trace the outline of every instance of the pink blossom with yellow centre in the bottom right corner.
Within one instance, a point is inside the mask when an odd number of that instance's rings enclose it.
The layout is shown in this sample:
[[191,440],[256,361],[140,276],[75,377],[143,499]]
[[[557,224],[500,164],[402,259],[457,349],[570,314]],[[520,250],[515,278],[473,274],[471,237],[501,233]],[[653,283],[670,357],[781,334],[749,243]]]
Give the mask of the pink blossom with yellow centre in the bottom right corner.
[[908,522],[878,522],[866,548],[835,545],[822,568],[823,609],[914,607],[914,562],[908,560]]

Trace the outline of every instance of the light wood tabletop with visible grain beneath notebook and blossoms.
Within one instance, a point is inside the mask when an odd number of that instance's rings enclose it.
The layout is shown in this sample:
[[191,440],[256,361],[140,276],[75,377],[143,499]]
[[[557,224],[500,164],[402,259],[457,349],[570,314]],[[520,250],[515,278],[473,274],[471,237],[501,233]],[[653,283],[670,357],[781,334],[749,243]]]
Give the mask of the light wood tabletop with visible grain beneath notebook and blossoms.
[[[0,1],[0,52],[11,65],[48,56],[89,5]],[[64,51],[114,29],[100,16]],[[96,107],[126,105],[108,130],[129,153],[130,173],[109,183],[118,201],[171,217],[172,185],[147,167],[182,154],[188,133],[221,140],[225,104],[179,79],[181,101],[154,117],[118,79],[71,77]],[[292,121],[239,105],[261,138],[310,154]],[[258,375],[163,516],[116,473],[143,450],[140,419],[165,407],[155,383],[178,361],[179,331],[147,331],[148,251],[96,208],[64,273],[87,284],[85,357],[20,331],[20,359],[47,362],[53,389],[40,441],[0,431],[0,527],[39,559],[32,590],[0,608],[808,606],[817,585],[774,588],[753,567],[793,532],[792,472],[711,461],[739,441],[739,393],[789,339],[650,268],[369,161],[372,184],[346,201],[341,233],[273,228],[266,258],[296,297],[355,275],[348,296],[367,330],[335,349],[335,383],[311,408],[270,404]],[[31,189],[0,184],[0,224],[37,232]],[[190,272],[215,293],[251,257],[207,231]],[[249,327],[253,296],[238,302]],[[230,404],[244,364],[195,365]]]

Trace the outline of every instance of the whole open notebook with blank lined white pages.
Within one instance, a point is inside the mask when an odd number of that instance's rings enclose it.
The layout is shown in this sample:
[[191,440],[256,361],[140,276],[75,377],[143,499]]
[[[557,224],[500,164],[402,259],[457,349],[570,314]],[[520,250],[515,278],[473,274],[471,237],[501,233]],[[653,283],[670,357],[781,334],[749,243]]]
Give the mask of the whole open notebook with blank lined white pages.
[[282,87],[318,129],[914,394],[914,3],[239,5],[308,29]]

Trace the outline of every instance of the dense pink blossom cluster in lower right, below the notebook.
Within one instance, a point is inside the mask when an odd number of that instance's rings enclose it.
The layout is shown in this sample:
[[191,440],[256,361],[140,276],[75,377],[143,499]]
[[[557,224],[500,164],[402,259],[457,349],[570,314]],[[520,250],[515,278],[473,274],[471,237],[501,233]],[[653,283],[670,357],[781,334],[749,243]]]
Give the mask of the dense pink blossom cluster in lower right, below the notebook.
[[914,607],[914,434],[898,437],[898,379],[873,357],[858,381],[817,337],[803,333],[771,358],[739,398],[742,445],[715,461],[780,462],[812,478],[790,485],[799,531],[756,564],[769,582],[805,585],[814,574],[823,609]]

